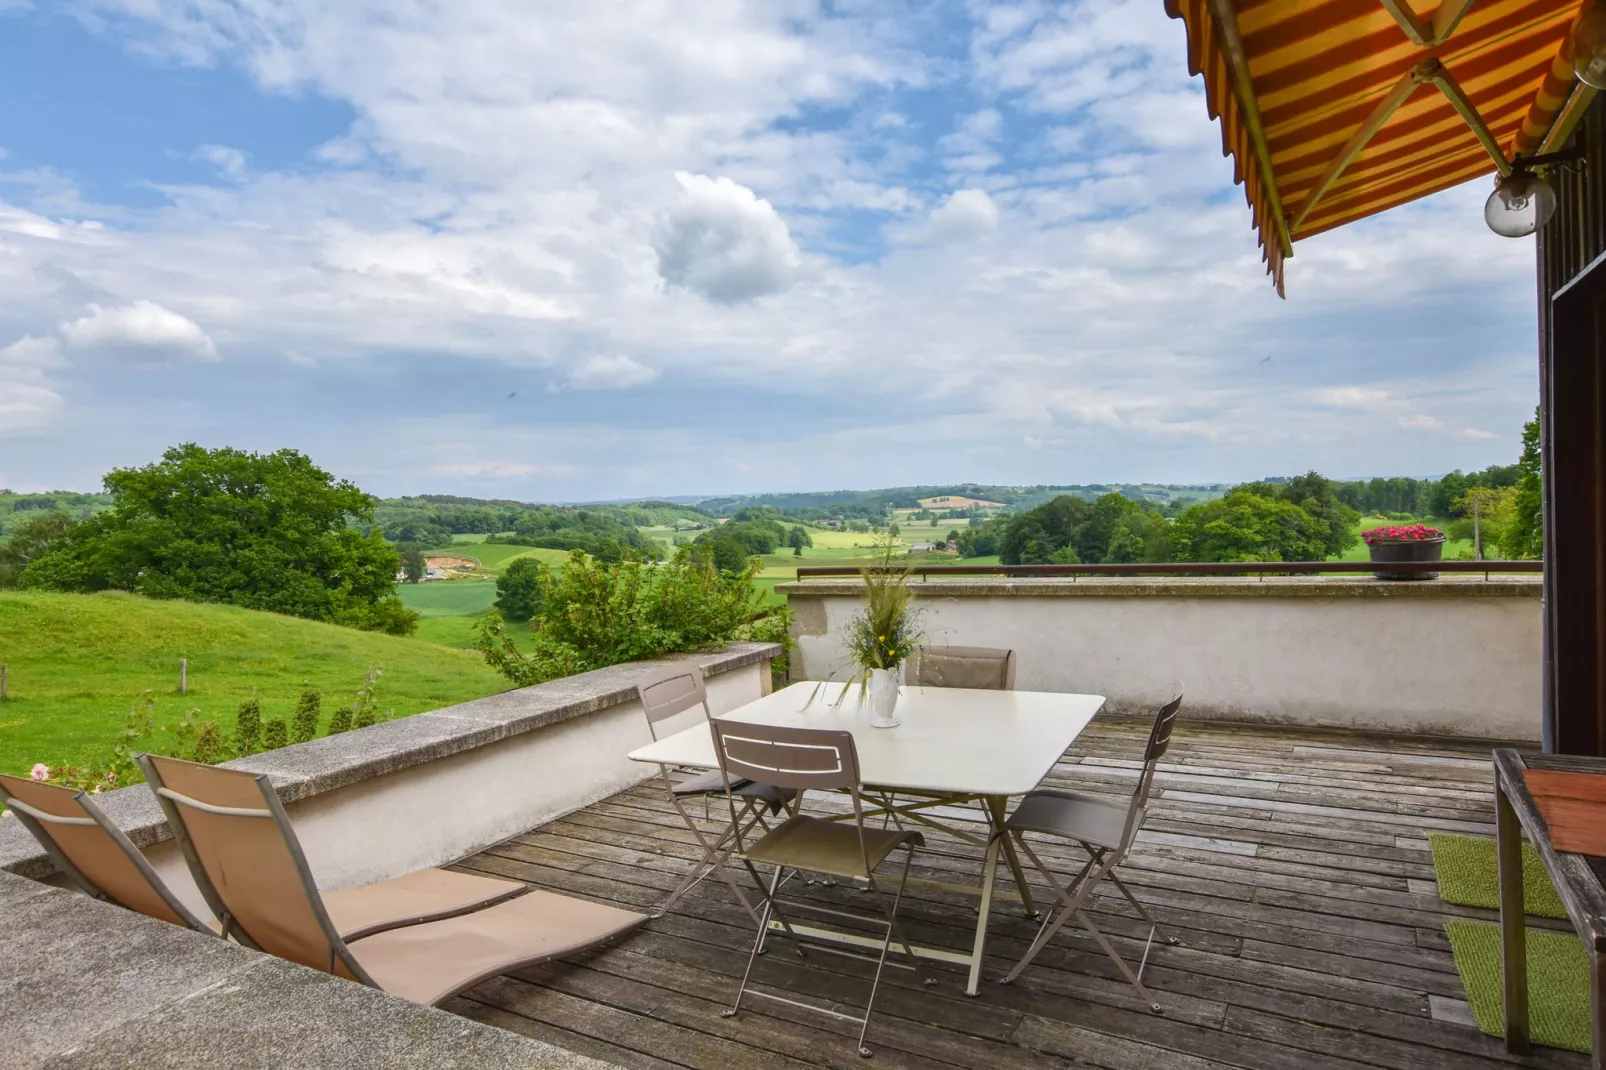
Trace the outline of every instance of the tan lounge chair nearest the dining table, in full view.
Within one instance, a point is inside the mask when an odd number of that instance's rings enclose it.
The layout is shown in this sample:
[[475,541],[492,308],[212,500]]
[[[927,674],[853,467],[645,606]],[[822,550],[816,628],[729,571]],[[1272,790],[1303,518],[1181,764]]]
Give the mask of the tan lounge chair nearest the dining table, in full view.
[[[347,941],[263,774],[140,755],[196,885],[239,943],[416,1003],[604,945],[644,914],[532,890],[469,914]],[[443,807],[450,800],[443,800]]]

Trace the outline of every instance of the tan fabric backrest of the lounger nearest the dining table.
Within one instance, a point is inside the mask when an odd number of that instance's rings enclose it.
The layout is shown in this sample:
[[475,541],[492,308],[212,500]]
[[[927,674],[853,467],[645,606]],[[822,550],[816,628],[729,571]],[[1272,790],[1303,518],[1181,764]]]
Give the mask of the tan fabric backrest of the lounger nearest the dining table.
[[140,755],[201,895],[225,933],[259,951],[373,985],[323,908],[265,774]]

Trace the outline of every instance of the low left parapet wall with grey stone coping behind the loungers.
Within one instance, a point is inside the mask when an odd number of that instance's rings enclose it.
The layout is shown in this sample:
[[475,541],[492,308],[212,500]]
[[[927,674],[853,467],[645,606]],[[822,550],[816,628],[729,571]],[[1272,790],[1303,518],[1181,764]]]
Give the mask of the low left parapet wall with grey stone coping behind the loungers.
[[[723,713],[768,692],[769,659],[779,651],[732,643],[683,657],[702,665],[708,704]],[[271,778],[321,888],[371,884],[456,861],[655,774],[625,755],[652,739],[634,686],[658,665],[599,668],[228,766]],[[700,717],[689,710],[660,733]],[[98,802],[180,898],[209,916],[151,790],[137,784]],[[0,821],[0,869],[55,876],[16,821]]]

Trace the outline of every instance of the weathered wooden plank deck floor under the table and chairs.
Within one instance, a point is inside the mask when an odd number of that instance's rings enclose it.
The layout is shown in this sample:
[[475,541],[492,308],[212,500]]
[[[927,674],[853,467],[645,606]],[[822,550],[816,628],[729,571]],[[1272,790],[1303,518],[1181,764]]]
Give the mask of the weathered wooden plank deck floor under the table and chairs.
[[[1129,789],[1145,731],[1100,718],[1050,782]],[[1487,755],[1487,745],[1444,741],[1184,725],[1123,871],[1182,938],[1156,946],[1145,974],[1164,1017],[1148,1014],[1092,940],[1070,927],[1018,983],[997,985],[1033,932],[1018,905],[1004,901],[989,927],[981,994],[964,994],[957,969],[890,969],[870,1025],[875,1057],[866,1064],[854,1052],[856,1027],[824,1015],[753,1001],[740,1019],[719,1017],[753,930],[718,880],[617,948],[495,978],[448,1006],[644,1070],[1584,1067],[1582,1056],[1563,1051],[1506,1056],[1471,1025],[1463,1003],[1442,922],[1495,916],[1437,898],[1426,835],[1494,834]],[[919,871],[975,880],[976,848],[943,837],[928,843],[935,850],[917,858]],[[662,789],[646,784],[463,866],[644,909],[694,858]],[[862,901],[862,892],[842,885],[809,892]],[[973,911],[973,898],[915,893],[903,917],[915,943],[965,950]],[[1094,917],[1135,961],[1142,929],[1126,903],[1100,896]],[[798,959],[776,940],[755,982],[862,1006],[867,972],[834,954]],[[922,983],[928,975],[938,983]]]

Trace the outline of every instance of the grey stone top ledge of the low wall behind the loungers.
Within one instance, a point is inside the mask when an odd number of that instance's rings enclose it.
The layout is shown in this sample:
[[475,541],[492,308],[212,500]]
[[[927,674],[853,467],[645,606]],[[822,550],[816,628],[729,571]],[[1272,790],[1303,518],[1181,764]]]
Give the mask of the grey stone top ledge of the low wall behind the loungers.
[[[779,654],[781,647],[774,643],[731,643],[713,654],[681,654],[678,659],[695,660],[703,673],[718,676]],[[636,680],[657,665],[610,665],[238,758],[226,766],[267,773],[279,798],[292,803],[630,702],[636,697]],[[96,803],[135,847],[151,847],[172,837],[156,797],[145,784],[106,792]],[[56,871],[27,829],[10,819],[0,821],[0,869],[35,879]]]

